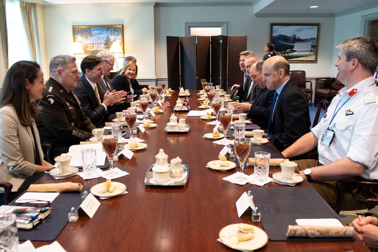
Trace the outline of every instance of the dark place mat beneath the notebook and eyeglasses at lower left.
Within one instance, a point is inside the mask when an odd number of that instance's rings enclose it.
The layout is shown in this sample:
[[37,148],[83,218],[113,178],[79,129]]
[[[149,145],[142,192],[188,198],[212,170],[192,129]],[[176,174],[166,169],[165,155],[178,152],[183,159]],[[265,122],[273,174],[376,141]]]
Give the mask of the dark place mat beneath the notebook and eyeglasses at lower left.
[[[89,193],[90,188],[83,188],[81,192],[60,193],[50,204],[50,207],[53,208],[50,215],[32,229],[19,229],[19,239],[22,241],[55,240],[68,222],[68,213],[70,212],[71,207],[77,209],[81,204],[81,195],[85,190]],[[10,205],[17,205],[17,203],[12,202]]]

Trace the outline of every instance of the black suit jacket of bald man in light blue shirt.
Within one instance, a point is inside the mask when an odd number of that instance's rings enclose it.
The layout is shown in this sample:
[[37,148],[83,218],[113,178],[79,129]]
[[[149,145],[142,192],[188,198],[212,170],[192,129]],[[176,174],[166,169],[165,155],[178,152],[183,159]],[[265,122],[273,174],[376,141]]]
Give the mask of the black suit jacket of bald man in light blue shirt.
[[292,144],[310,131],[310,113],[306,97],[291,80],[283,87],[272,111],[270,141],[279,151],[285,144]]

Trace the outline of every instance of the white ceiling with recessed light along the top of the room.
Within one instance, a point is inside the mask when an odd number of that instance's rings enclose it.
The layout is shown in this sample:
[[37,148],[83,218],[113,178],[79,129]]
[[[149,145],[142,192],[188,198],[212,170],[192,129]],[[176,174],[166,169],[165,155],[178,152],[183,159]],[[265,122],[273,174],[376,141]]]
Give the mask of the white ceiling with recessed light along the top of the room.
[[[31,0],[30,2],[41,2]],[[253,5],[256,17],[339,16],[378,6],[377,0],[106,0],[106,4],[158,6]],[[44,5],[105,4],[104,0],[43,0]],[[310,8],[317,5],[318,8]]]

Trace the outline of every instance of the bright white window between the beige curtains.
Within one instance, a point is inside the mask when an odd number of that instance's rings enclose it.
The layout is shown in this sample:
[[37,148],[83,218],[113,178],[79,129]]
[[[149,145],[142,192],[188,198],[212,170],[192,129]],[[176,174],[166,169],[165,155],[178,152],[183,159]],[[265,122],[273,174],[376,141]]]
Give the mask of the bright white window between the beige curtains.
[[6,24],[8,28],[8,66],[11,67],[17,61],[33,60],[26,39],[20,1],[6,0]]

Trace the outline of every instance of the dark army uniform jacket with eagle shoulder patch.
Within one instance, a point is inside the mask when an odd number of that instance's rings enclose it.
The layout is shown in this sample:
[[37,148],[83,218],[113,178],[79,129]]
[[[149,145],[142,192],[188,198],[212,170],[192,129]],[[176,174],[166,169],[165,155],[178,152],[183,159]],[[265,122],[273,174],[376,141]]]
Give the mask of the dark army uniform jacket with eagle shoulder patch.
[[42,107],[36,125],[41,143],[53,144],[51,156],[68,152],[71,145],[77,145],[92,136],[96,128],[82,111],[74,91],[67,90],[50,78],[37,104]]

